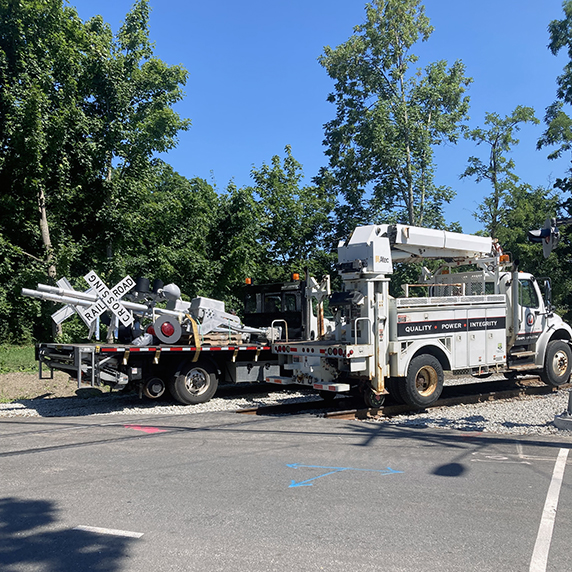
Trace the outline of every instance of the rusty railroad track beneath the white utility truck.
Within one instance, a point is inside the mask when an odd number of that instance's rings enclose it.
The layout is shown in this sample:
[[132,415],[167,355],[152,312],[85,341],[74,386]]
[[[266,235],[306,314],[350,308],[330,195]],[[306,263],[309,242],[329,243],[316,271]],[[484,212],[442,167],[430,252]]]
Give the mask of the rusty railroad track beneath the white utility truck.
[[561,385],[559,388],[549,387],[538,377],[512,381],[479,381],[461,385],[447,385],[443,388],[440,399],[423,409],[396,403],[391,400],[390,396],[388,396],[387,404],[379,408],[360,407],[358,403],[361,400],[357,397],[343,397],[328,402],[316,396],[316,400],[312,401],[250,407],[239,409],[237,413],[246,415],[296,415],[316,410],[323,412],[324,417],[328,419],[373,419],[406,415],[435,407],[515,399],[525,395],[549,395],[561,389],[570,388],[572,388],[572,383]]

